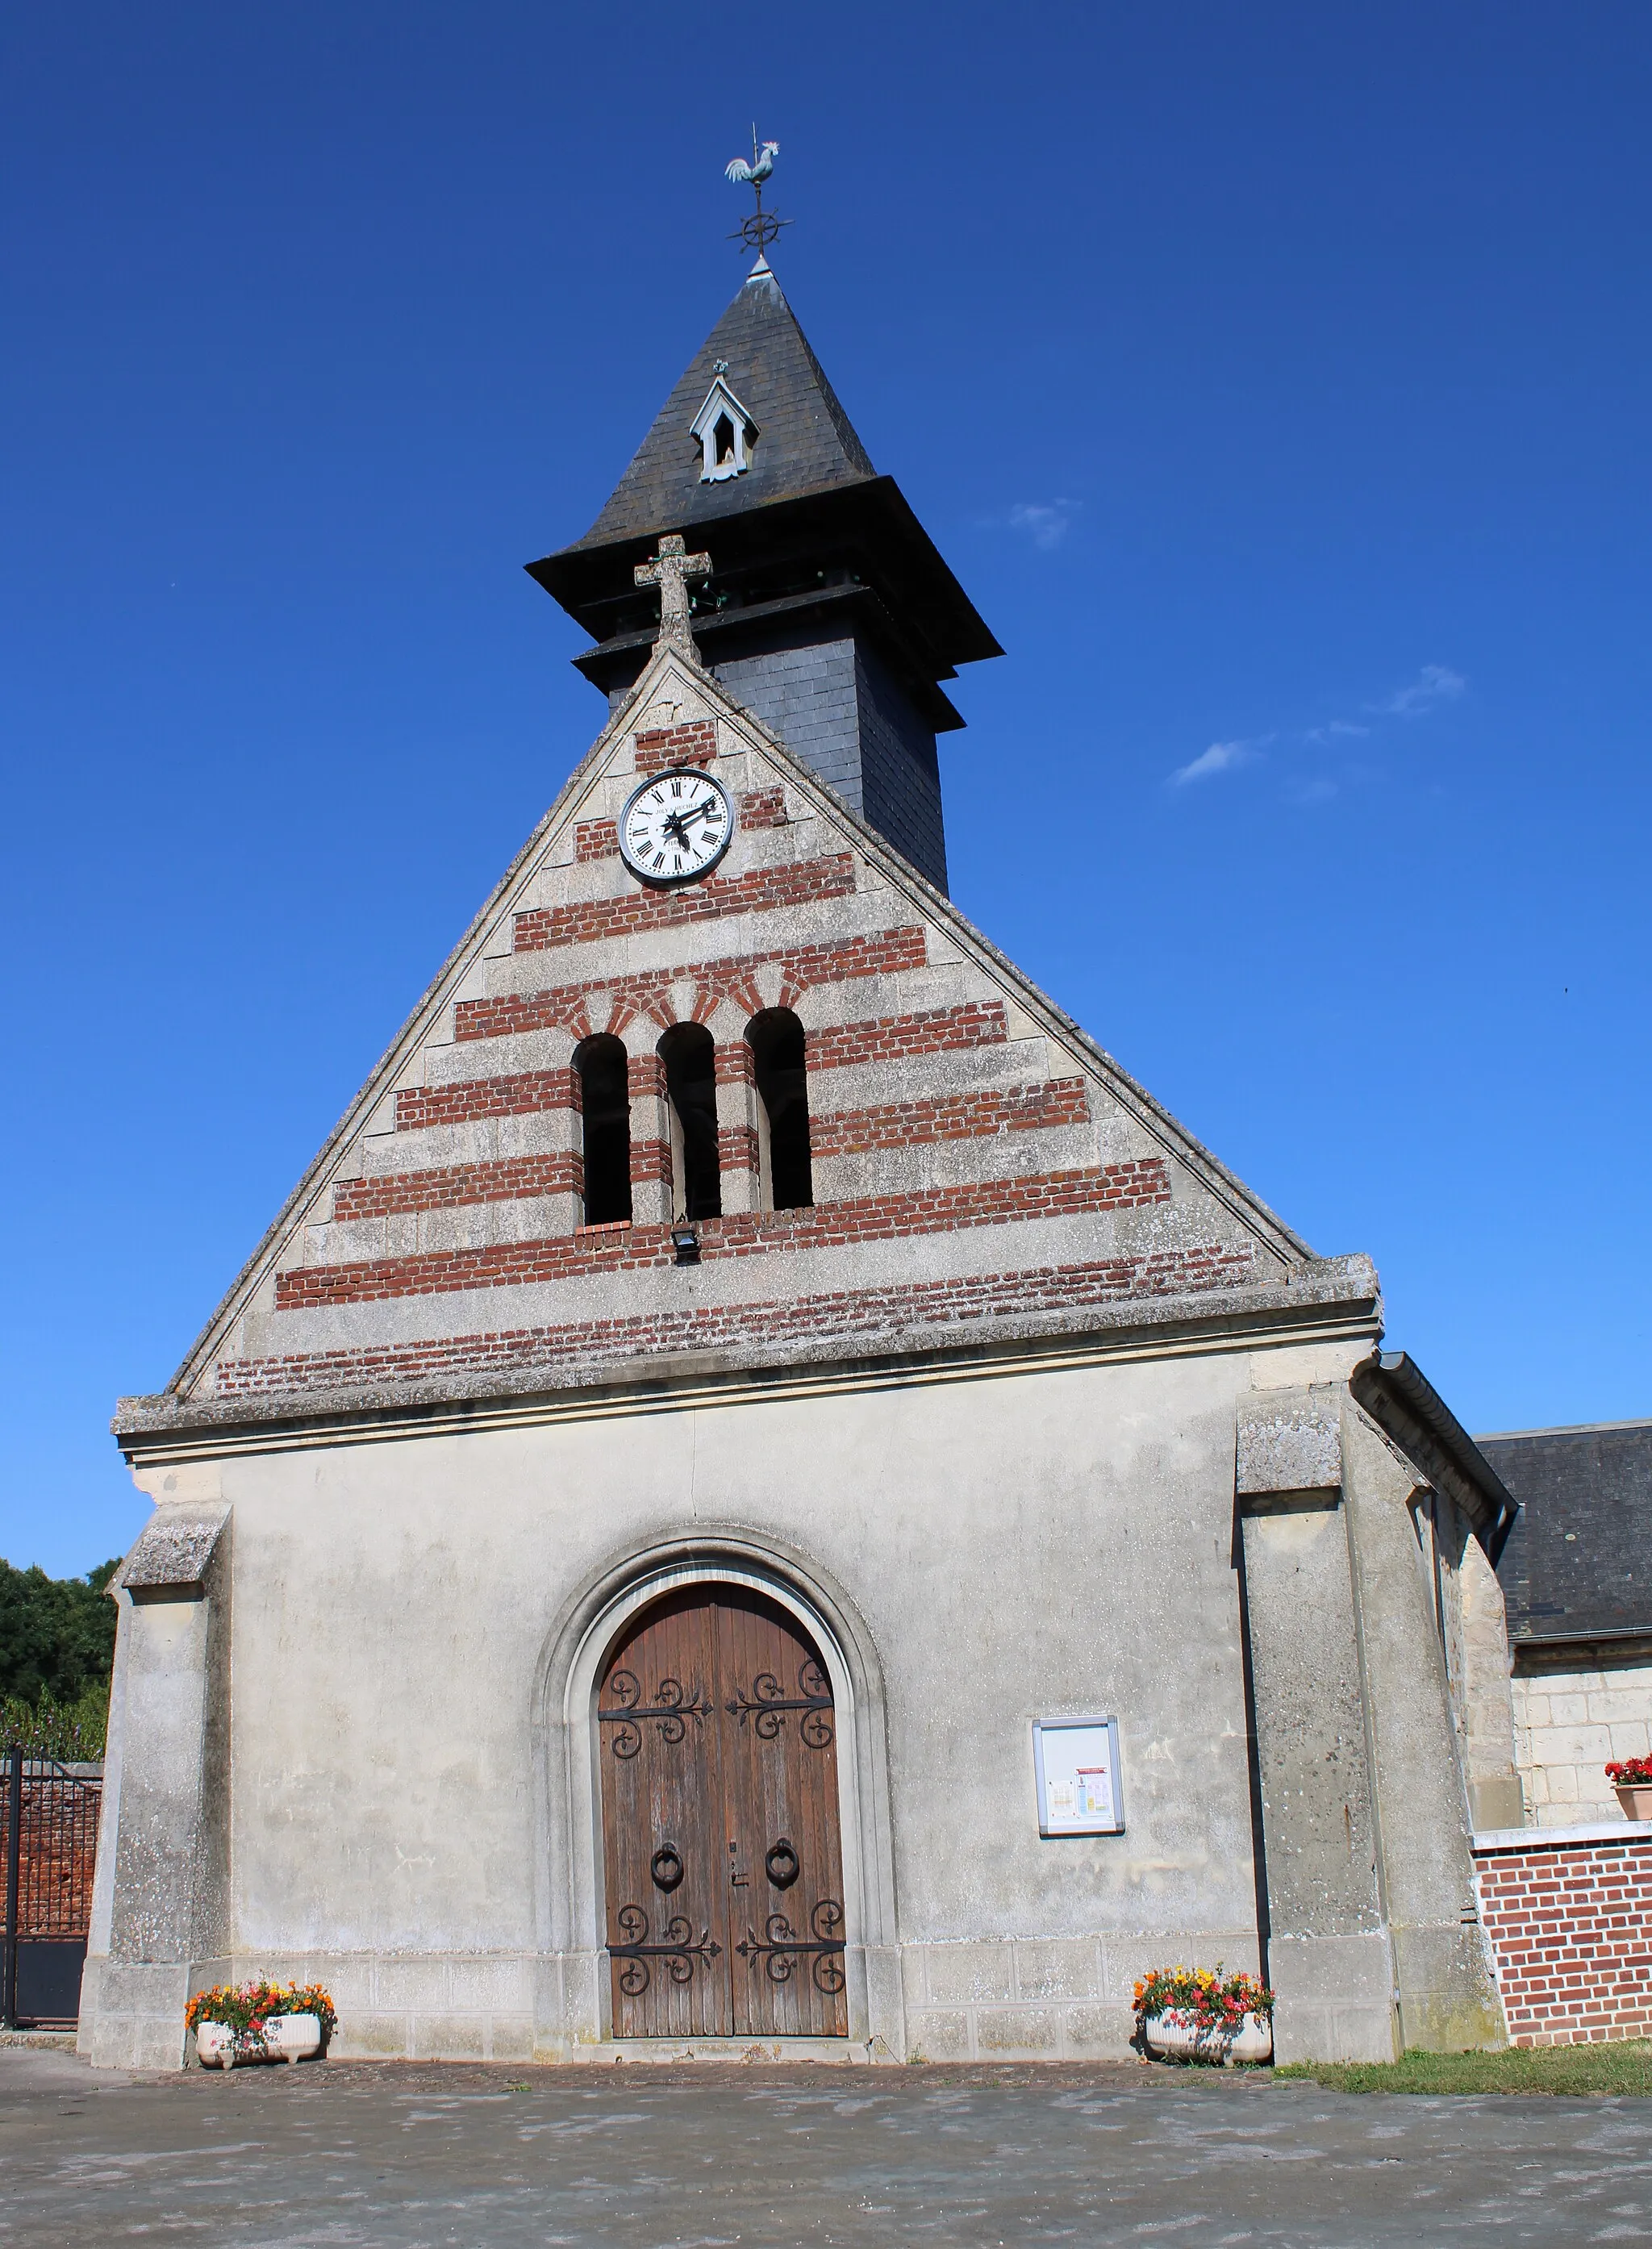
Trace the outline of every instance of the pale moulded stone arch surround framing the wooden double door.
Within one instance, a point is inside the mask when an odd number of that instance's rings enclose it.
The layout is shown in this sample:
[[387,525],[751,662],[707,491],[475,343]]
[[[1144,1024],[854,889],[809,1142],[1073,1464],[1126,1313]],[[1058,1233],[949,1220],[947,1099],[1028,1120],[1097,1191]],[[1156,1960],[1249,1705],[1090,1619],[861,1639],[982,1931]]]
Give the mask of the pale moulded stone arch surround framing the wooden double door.
[[[605,1975],[602,1799],[596,1750],[598,1680],[607,1651],[638,1610],[681,1586],[746,1586],[811,1635],[838,1707],[838,1822],[847,1921],[850,2051],[906,2053],[895,1923],[895,1831],[886,1759],[883,1673],[847,1592],[796,1547],[748,1527],[706,1527],[616,1556],[553,1624],[535,1678],[535,1914],[546,1975],[535,2049],[578,2058],[611,2044]],[[744,2053],[751,2040],[730,2042]],[[665,2051],[665,2042],[661,2042]],[[697,2042],[695,2051],[710,2051]]]

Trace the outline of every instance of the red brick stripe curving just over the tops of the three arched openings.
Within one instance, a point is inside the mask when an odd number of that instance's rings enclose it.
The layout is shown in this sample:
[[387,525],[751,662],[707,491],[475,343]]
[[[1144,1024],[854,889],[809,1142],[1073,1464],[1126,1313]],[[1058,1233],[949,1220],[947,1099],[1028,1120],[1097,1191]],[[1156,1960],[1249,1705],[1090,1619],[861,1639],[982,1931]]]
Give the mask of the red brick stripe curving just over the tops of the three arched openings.
[[[753,985],[762,967],[780,969],[780,1001],[791,1005],[811,985],[850,983],[856,976],[897,976],[901,969],[922,969],[926,942],[922,929],[879,929],[870,938],[845,938],[838,945],[796,945],[771,954],[728,954],[719,960],[695,960],[681,969],[652,969],[645,976],[620,976],[611,985],[598,985],[602,1001],[614,1010],[611,1021],[625,1028],[638,1014],[652,1014],[661,1030],[668,1017],[661,1003],[674,983],[697,987],[695,1019],[704,1021],[712,1008],[733,999],[757,1014],[764,1005]],[[456,1039],[506,1039],[519,1030],[571,1030],[584,1039],[593,1026],[589,1019],[591,987],[548,985],[542,992],[508,992],[499,999],[461,999],[454,1008]],[[940,1010],[962,1014],[966,1010]],[[991,1012],[991,1010],[982,1010]],[[1002,1014],[1002,1010],[1000,1010]],[[924,1019],[915,1019],[924,1021]],[[832,1037],[825,1032],[823,1037]],[[924,1053],[924,1048],[917,1048]],[[859,1059],[859,1057],[856,1057]]]

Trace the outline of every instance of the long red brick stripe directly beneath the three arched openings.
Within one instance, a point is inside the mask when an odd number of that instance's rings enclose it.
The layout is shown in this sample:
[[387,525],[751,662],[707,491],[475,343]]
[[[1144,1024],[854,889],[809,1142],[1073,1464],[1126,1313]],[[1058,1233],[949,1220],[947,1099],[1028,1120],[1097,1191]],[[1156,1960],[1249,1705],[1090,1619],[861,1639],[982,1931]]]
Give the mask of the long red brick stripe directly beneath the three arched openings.
[[[632,1176],[638,1149],[632,1142]],[[654,1176],[652,1172],[647,1176]],[[661,1172],[661,1178],[665,1174]],[[1027,1178],[991,1178],[971,1187],[924,1187],[917,1194],[863,1196],[816,1203],[814,1210],[735,1212],[706,1219],[701,1257],[753,1257],[766,1250],[841,1248],[850,1241],[895,1241],[906,1235],[953,1232],[964,1226],[1009,1226],[1020,1219],[1090,1217],[1104,1210],[1142,1210],[1167,1203],[1171,1185],[1158,1156],[1110,1163],[1086,1172],[1034,1172]],[[497,1241],[488,1248],[429,1250],[420,1257],[375,1257],[353,1264],[294,1266],[276,1275],[276,1311],[310,1304],[373,1304],[400,1295],[447,1295],[456,1289],[524,1289],[611,1266],[634,1268],[670,1262],[670,1237],[659,1228],[634,1228],[625,1255],[600,1255],[578,1235],[542,1241]]]

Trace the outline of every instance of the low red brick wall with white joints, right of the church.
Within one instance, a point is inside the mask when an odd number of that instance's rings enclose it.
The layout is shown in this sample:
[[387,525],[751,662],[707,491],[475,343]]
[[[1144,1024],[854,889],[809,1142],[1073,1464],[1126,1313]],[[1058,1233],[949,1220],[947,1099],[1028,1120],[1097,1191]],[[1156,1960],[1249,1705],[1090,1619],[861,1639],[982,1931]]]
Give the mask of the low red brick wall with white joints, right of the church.
[[[1542,1828],[1533,1828],[1542,1835]],[[1652,1835],[1474,1851],[1517,2047],[1652,2038]]]

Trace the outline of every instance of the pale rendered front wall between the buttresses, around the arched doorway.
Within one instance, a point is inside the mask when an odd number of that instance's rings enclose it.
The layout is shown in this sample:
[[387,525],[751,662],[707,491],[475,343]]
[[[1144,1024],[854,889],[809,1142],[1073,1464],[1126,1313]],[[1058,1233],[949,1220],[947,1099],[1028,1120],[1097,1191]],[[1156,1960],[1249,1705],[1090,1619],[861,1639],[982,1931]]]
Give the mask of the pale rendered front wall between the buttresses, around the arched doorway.
[[[737,1536],[843,1588],[874,1676],[859,2035],[1126,2051],[1155,1961],[1261,1966],[1250,1381],[1232,1352],[225,1460],[238,1972],[321,1975],[344,2051],[589,2047],[600,1905],[575,1925],[546,1837],[596,1808],[542,1664],[625,1556]],[[1029,1723],[1061,1714],[1119,1718],[1124,1835],[1038,1837]]]

